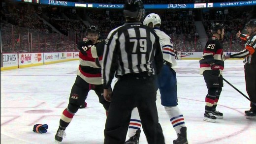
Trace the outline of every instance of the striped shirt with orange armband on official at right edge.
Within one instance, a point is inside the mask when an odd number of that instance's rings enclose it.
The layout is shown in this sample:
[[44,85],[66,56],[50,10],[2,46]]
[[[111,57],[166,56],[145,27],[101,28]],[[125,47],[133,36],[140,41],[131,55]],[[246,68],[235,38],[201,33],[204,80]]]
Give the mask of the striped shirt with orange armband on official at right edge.
[[230,58],[244,58],[244,63],[256,63],[256,34],[247,36],[245,49],[230,55]]

